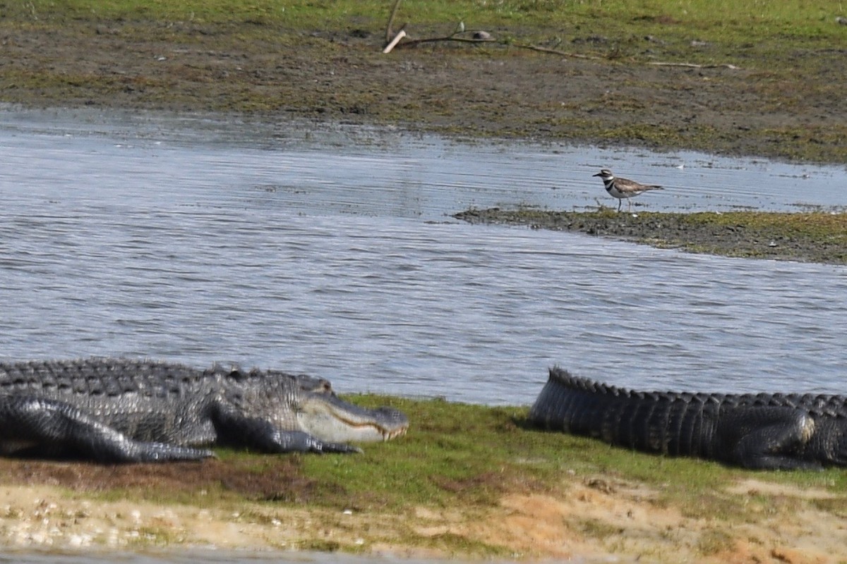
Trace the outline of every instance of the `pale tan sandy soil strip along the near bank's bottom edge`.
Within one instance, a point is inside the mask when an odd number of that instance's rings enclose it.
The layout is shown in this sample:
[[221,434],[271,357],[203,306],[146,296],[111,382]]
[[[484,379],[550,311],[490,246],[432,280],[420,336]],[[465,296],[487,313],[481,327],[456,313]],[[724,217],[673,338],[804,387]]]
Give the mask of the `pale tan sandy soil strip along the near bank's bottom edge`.
[[[655,492],[592,479],[566,496],[512,494],[490,509],[410,507],[403,515],[335,509],[285,508],[257,502],[233,507],[197,503],[163,506],[146,501],[91,501],[51,485],[0,487],[0,542],[14,549],[363,550],[369,554],[431,558],[468,556],[439,548],[445,535],[469,545],[507,548],[517,560],[801,562],[847,558],[847,518],[809,501],[827,492],[795,490],[750,479],[732,485],[736,496],[767,494],[791,509],[728,528],[688,517],[653,501]],[[802,502],[800,511],[795,508]],[[417,538],[419,544],[409,544]],[[425,548],[421,548],[425,546]],[[470,553],[471,557],[479,556]]]

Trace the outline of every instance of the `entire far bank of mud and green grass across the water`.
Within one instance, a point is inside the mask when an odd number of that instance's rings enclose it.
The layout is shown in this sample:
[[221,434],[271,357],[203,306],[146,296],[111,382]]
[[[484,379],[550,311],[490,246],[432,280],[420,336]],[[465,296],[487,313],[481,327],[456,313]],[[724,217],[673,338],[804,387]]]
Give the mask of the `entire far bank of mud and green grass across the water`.
[[0,101],[847,160],[839,4],[407,0],[413,38],[495,41],[384,56],[390,5],[5,3]]

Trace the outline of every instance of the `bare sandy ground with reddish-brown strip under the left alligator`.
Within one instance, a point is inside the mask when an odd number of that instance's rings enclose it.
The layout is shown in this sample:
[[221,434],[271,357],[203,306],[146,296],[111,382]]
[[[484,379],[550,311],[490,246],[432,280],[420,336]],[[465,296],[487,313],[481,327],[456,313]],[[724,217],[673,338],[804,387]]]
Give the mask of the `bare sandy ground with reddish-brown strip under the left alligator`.
[[[308,480],[286,481],[291,463],[279,460],[279,471],[255,483],[217,461],[118,467],[0,461],[0,544],[20,550],[346,550],[417,558],[475,558],[485,556],[480,547],[494,547],[518,560],[800,564],[847,558],[847,516],[833,520],[819,507],[843,507],[843,499],[752,477],[728,485],[725,495],[751,505],[762,496],[777,502],[761,504],[758,518],[734,525],[686,515],[656,502],[655,491],[609,476],[566,475],[564,493],[507,492],[490,507],[407,507],[398,514],[311,506]],[[233,488],[233,499],[206,501],[221,484]],[[280,487],[304,501],[268,503],[268,491]],[[97,497],[113,488],[126,493]],[[151,497],[152,489],[182,492],[185,500],[139,499]],[[457,550],[456,539],[467,549]]]

